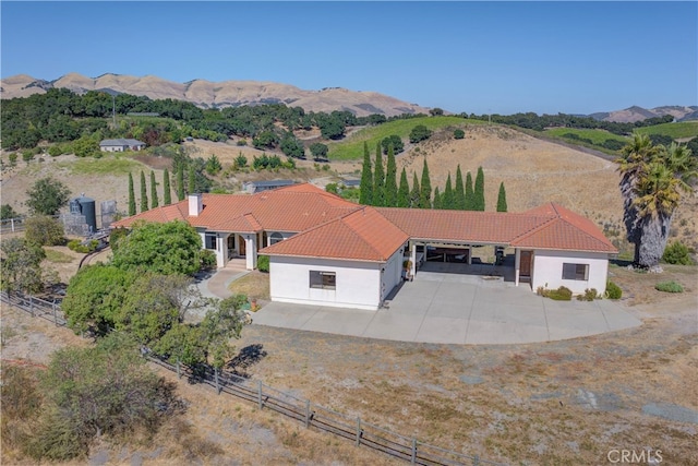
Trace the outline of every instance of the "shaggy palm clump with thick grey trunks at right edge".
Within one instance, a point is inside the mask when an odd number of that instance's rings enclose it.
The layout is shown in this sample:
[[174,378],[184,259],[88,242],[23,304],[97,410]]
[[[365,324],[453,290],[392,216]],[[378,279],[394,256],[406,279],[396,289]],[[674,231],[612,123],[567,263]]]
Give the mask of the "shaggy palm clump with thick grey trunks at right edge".
[[635,134],[617,160],[624,198],[628,241],[635,244],[634,262],[643,267],[659,264],[682,192],[698,172],[696,157],[686,146],[654,146],[649,136]]

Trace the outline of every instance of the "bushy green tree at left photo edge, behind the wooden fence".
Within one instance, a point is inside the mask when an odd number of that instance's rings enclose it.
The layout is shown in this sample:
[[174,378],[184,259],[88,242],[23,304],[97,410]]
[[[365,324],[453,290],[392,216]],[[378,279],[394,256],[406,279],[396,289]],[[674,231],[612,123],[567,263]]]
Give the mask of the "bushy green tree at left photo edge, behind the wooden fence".
[[44,289],[41,261],[44,248],[24,238],[10,238],[0,242],[0,289],[5,292],[39,292]]

